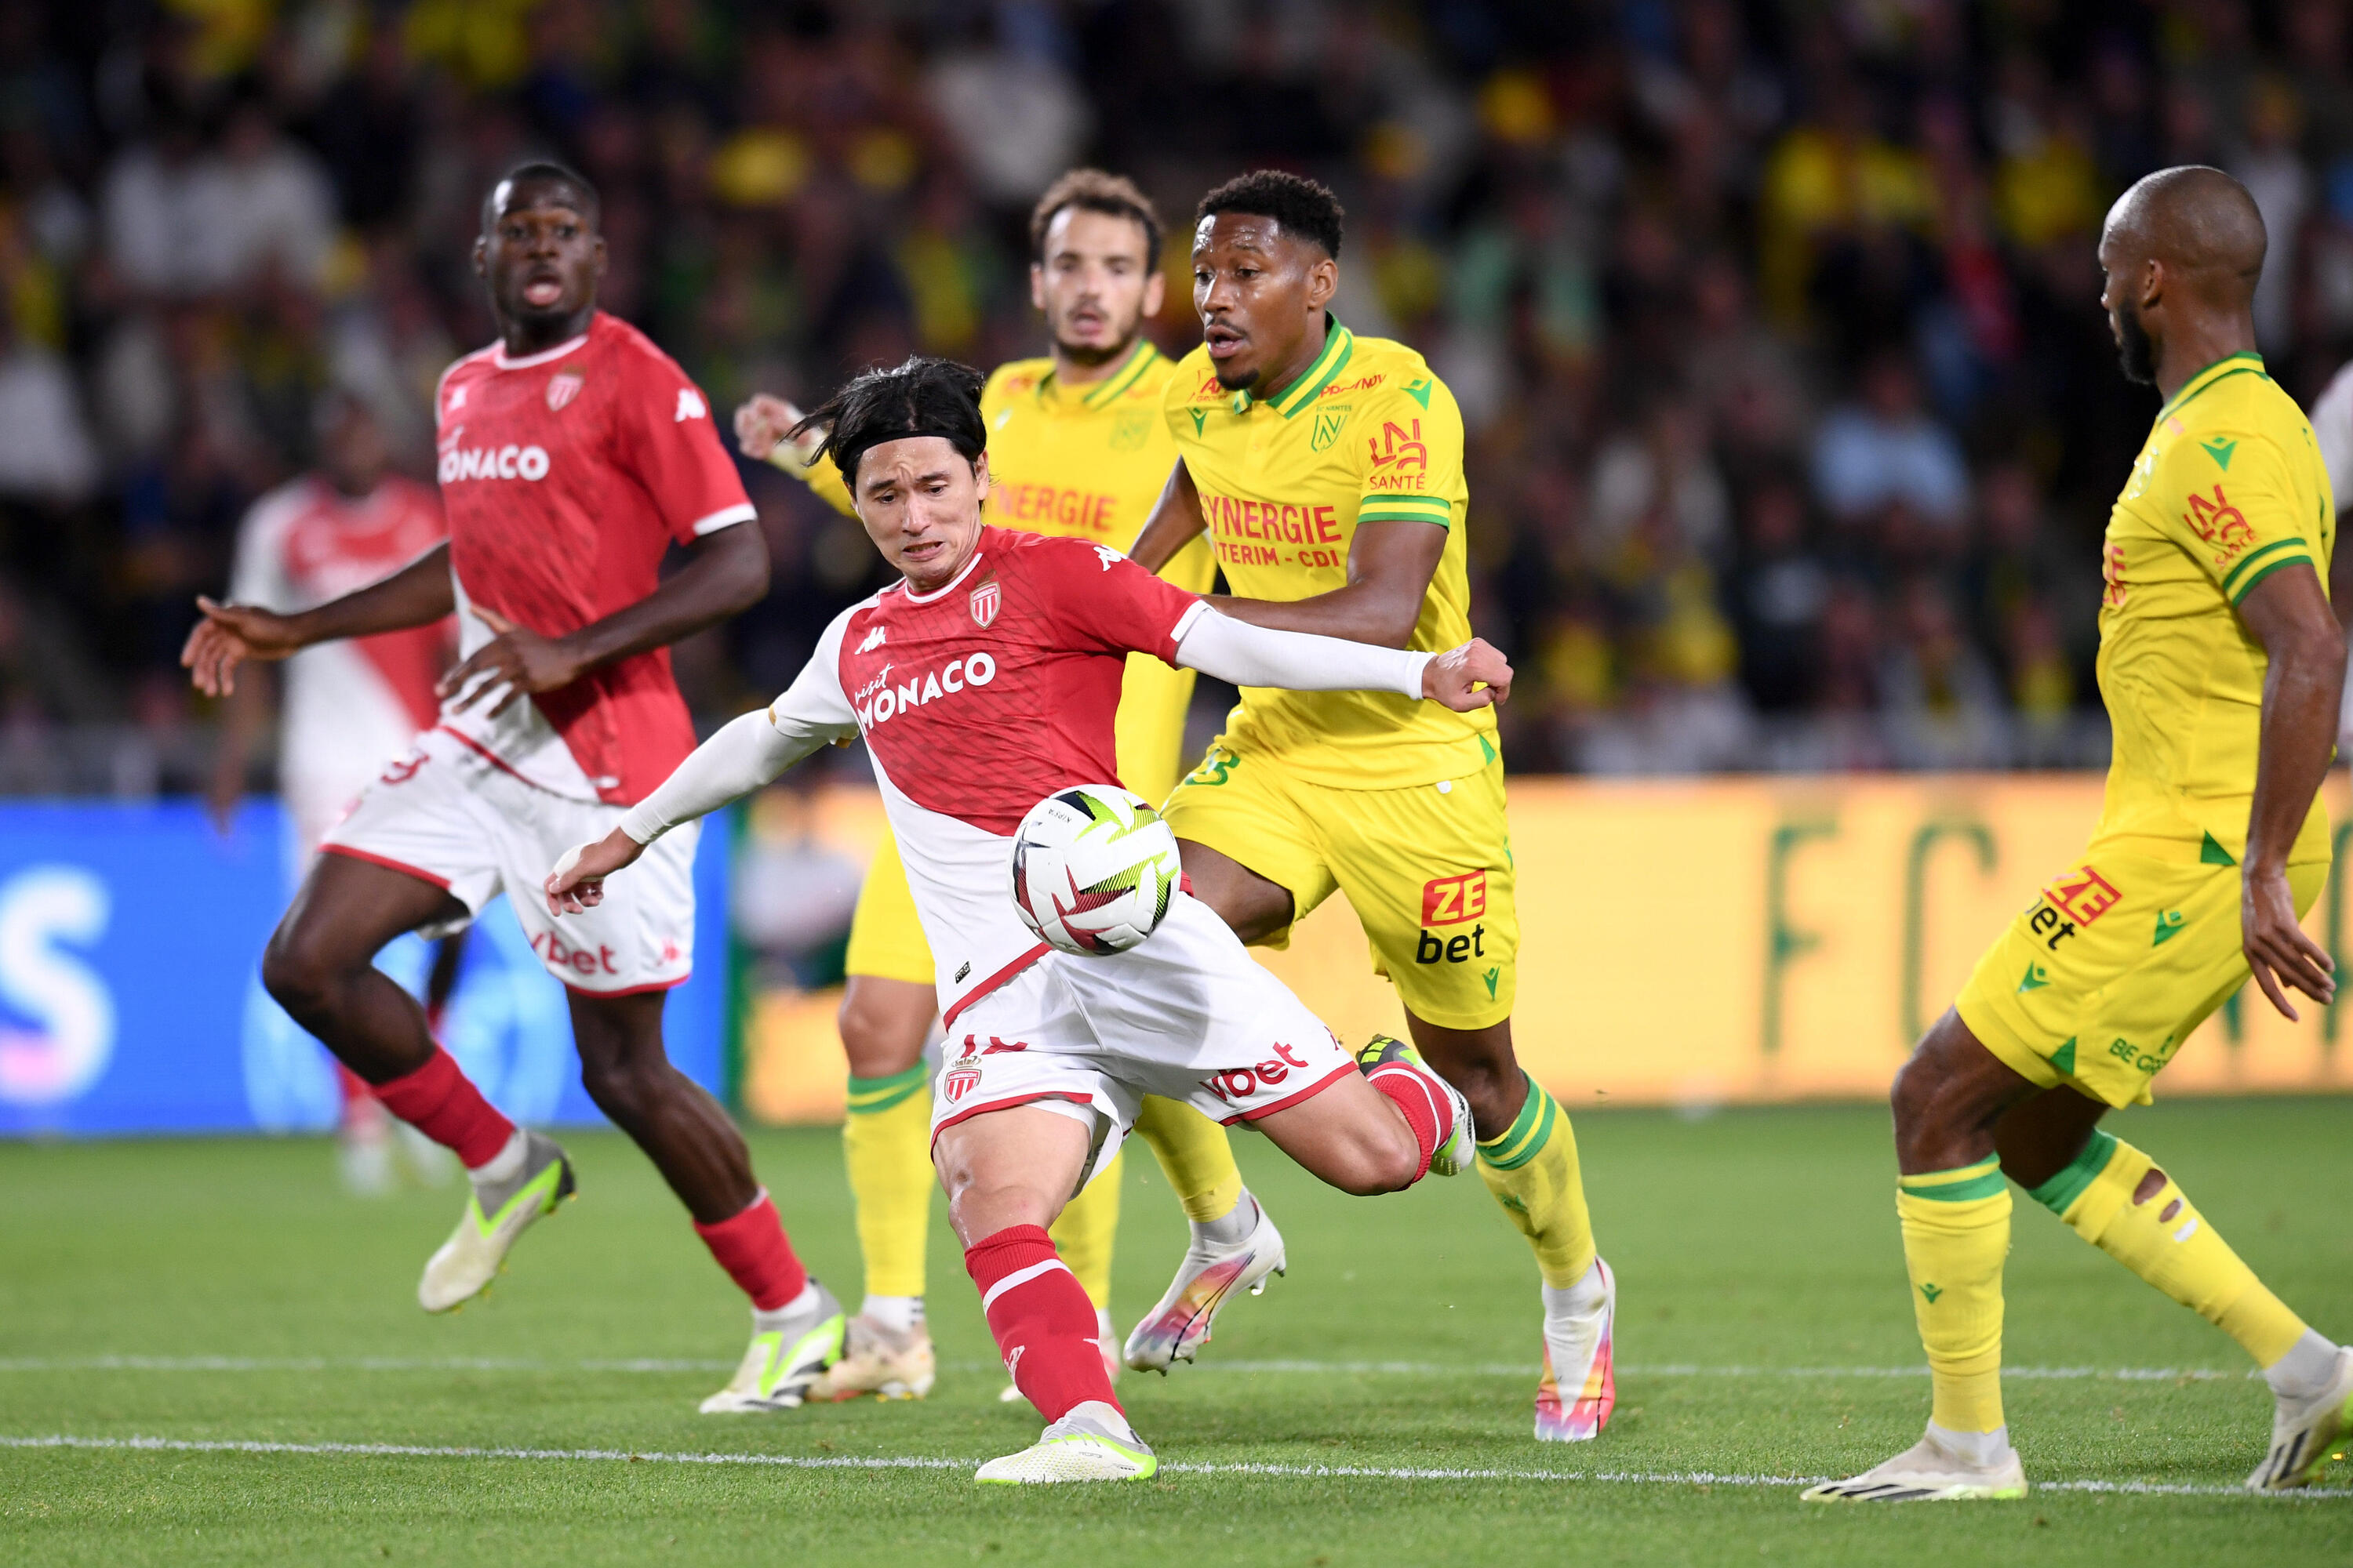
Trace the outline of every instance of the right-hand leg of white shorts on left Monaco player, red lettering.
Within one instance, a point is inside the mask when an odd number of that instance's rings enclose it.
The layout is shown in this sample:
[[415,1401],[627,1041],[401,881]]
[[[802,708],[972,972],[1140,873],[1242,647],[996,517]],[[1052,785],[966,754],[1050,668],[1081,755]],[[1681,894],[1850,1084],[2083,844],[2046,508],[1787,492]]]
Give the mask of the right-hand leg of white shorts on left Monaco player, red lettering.
[[694,971],[694,849],[701,823],[682,823],[605,879],[593,910],[548,912],[546,877],[574,844],[621,818],[614,806],[572,802],[520,780],[499,799],[499,875],[532,952],[551,976],[591,997],[671,990]]

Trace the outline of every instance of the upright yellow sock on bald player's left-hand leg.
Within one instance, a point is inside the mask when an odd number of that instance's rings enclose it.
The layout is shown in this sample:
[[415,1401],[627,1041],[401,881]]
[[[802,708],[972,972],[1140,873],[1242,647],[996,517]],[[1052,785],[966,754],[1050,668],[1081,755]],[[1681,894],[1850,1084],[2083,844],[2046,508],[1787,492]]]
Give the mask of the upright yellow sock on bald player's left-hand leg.
[[1904,1267],[1913,1316],[1927,1347],[1934,1401],[1946,1432],[2002,1427],[2002,1258],[2009,1255],[2009,1187],[2002,1161],[1897,1180]]

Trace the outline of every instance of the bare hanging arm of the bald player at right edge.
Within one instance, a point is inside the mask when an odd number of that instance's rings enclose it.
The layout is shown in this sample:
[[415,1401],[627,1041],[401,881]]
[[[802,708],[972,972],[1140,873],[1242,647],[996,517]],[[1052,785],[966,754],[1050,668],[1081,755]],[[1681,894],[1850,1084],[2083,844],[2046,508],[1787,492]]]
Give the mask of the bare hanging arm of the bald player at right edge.
[[2271,1006],[2294,1018],[2287,990],[2320,1004],[2337,997],[2337,964],[2297,924],[2287,853],[2329,771],[2346,644],[2311,567],[2297,564],[2261,578],[2238,602],[2238,614],[2271,661],[2264,672],[2264,729],[2240,872],[2240,931],[2257,985],[2271,997]]

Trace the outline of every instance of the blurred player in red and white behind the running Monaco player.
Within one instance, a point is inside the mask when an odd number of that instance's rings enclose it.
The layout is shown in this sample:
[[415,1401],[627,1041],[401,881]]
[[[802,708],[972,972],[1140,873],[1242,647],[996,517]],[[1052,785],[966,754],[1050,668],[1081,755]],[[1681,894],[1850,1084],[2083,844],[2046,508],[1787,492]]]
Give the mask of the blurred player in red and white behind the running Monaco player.
[[[280,484],[254,503],[238,527],[238,559],[228,597],[282,616],[315,609],[407,567],[449,536],[440,496],[391,470],[391,447],[369,407],[329,393],[318,409],[318,473]],[[456,625],[435,621],[374,637],[322,642],[285,661],[278,679],[278,795],[287,820],[292,886],[311,875],[320,839],[334,827],[384,764],[433,729],[440,698],[433,684],[449,668]],[[271,682],[252,670],[226,703],[221,750],[212,769],[212,816],[228,830],[245,797],[245,769],[271,717]],[[292,891],[292,889],[289,889]],[[426,1027],[456,990],[464,933],[442,938],[426,973]],[[376,1095],[336,1063],[344,1114],[336,1154],[344,1185],[360,1194],[393,1187],[393,1124]],[[402,1135],[402,1152],[428,1182],[447,1173],[440,1145]]]

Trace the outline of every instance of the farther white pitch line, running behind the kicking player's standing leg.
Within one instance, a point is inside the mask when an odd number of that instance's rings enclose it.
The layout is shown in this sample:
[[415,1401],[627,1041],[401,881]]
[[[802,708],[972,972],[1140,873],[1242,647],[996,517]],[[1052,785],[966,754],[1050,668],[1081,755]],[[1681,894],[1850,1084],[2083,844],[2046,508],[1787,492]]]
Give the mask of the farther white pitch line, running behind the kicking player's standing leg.
[[[727,1373],[734,1361],[638,1356],[619,1361],[534,1361],[527,1356],[0,1356],[0,1373]],[[995,1373],[995,1361],[944,1361],[953,1373]],[[1200,1373],[1304,1373],[1311,1378],[1525,1378],[1520,1361],[1202,1361]],[[1621,1378],[1927,1378],[1925,1366],[1697,1366],[1631,1361]],[[2235,1382],[2261,1373],[2212,1366],[2005,1366],[2028,1382]]]

